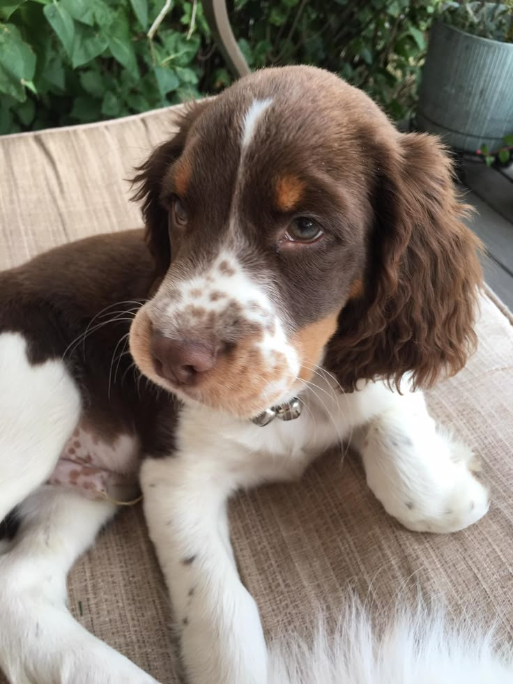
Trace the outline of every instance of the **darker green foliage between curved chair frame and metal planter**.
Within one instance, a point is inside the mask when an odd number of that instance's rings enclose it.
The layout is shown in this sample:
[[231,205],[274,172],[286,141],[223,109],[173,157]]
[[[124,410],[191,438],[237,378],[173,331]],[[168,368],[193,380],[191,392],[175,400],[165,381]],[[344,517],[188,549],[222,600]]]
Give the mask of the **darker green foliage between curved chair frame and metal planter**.
[[391,116],[411,112],[438,0],[233,0],[252,68],[309,63],[365,89]]

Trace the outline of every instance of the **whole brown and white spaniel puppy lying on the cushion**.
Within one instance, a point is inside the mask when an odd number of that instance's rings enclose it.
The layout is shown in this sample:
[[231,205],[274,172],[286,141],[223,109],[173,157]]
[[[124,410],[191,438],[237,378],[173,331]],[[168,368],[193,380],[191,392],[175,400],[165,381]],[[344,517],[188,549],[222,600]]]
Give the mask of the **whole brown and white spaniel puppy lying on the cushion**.
[[18,525],[0,556],[0,667],[15,683],[153,681],[65,606],[68,568],[139,473],[190,682],[263,684],[232,492],[351,439],[408,528],[487,512],[472,455],[420,390],[475,344],[479,245],[438,141],[309,67],[190,107],[135,180],[145,235],[0,275],[0,520]]

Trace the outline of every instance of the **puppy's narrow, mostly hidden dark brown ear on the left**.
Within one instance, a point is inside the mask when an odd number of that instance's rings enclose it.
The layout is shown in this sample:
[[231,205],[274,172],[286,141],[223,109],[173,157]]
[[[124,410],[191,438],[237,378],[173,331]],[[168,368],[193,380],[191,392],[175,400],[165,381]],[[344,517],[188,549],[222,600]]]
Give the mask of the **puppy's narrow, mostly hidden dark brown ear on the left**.
[[178,132],[153,150],[144,164],[135,169],[137,174],[132,178],[132,185],[139,186],[133,193],[132,200],[142,202],[146,243],[155,259],[158,275],[164,275],[171,262],[167,210],[162,206],[160,198],[162,181],[167,169],[183,152],[192,123],[206,107],[206,100],[192,102],[178,120]]

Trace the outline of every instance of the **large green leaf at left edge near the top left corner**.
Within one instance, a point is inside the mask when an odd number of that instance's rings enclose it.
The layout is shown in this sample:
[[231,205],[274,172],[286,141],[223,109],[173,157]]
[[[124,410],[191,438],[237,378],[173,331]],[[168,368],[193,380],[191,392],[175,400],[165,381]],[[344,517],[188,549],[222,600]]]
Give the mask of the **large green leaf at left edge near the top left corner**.
[[13,24],[0,26],[0,91],[24,102],[35,71],[36,55],[20,31]]

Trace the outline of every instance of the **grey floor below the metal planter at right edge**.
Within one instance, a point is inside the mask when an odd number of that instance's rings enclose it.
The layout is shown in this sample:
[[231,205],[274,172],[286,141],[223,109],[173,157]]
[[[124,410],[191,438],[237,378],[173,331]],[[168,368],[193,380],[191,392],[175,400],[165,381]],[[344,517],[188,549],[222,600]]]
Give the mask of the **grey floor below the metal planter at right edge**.
[[482,239],[482,259],[489,286],[513,310],[513,166],[489,169],[480,161],[464,162],[466,201],[477,214],[470,227]]

